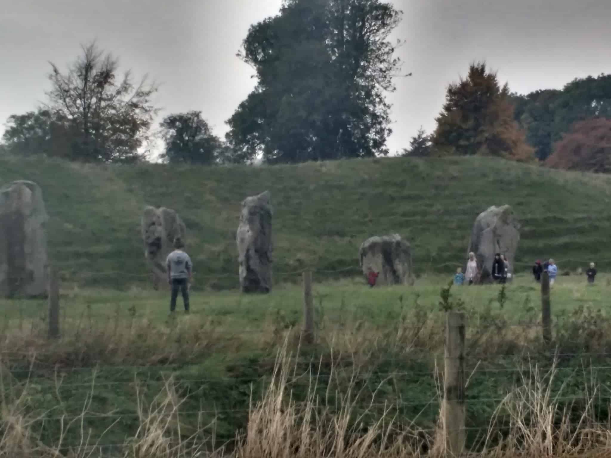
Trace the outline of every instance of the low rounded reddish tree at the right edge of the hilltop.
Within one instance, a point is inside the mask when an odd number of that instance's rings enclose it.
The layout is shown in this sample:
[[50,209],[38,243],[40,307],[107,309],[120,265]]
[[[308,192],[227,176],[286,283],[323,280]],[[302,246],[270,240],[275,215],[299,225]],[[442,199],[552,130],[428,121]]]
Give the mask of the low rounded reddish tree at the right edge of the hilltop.
[[611,119],[576,122],[554,144],[546,165],[555,169],[611,173]]

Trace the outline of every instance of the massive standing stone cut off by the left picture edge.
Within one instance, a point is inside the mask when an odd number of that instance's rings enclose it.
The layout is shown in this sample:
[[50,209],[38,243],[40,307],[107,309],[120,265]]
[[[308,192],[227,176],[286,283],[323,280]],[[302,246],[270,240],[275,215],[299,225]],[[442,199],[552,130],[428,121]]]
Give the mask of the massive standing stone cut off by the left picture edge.
[[47,220],[38,184],[13,181],[0,188],[0,296],[46,296]]

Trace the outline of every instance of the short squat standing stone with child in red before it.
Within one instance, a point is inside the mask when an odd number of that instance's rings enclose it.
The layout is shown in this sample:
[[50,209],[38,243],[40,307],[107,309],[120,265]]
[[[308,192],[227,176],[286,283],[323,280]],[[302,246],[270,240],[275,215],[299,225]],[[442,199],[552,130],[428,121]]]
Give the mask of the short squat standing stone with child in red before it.
[[365,278],[371,271],[378,273],[376,285],[411,284],[411,247],[399,234],[375,236],[365,240],[359,249],[359,264]]

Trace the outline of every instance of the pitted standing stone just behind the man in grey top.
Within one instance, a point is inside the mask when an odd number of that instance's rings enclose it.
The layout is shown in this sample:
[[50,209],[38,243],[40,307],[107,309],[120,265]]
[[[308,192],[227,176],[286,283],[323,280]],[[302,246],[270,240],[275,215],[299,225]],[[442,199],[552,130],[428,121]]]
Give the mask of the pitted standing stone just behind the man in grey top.
[[170,208],[147,206],[142,214],[144,257],[153,272],[155,289],[167,285],[166,259],[174,250],[174,239],[185,239],[186,227],[178,213]]

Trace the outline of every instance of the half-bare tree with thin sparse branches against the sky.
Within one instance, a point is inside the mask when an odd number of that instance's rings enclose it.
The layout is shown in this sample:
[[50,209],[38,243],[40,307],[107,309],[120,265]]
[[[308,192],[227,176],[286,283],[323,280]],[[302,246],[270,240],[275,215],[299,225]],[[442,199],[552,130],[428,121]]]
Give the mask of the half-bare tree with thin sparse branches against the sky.
[[49,108],[68,120],[70,156],[88,162],[137,161],[148,140],[156,110],[154,84],[134,85],[130,71],[119,75],[119,61],[95,43],[65,73],[51,64]]

